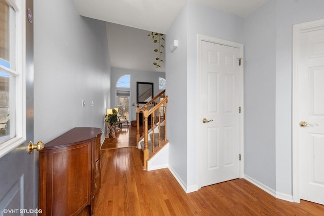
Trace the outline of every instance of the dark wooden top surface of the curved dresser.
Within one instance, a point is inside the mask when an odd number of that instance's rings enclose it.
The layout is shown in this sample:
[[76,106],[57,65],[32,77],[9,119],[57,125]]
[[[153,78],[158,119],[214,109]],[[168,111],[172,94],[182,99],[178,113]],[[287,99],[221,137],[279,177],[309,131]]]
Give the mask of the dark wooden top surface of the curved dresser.
[[76,145],[96,137],[101,137],[101,134],[101,128],[98,127],[74,127],[70,131],[46,143],[44,150]]

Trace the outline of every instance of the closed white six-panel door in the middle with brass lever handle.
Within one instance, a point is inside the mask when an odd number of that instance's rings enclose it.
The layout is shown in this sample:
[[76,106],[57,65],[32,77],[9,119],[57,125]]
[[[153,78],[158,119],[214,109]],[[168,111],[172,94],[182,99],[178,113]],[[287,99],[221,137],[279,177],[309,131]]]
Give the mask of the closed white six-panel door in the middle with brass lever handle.
[[[199,41],[200,186],[240,177],[239,45]],[[205,40],[205,37],[207,40]],[[237,46],[237,47],[236,47]]]

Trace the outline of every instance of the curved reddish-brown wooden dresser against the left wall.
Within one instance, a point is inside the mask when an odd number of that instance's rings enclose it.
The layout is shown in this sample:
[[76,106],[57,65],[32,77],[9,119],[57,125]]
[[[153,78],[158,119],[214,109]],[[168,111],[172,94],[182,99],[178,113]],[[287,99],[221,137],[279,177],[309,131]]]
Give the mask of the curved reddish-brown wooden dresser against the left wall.
[[100,128],[75,127],[39,152],[42,215],[93,215],[101,187]]

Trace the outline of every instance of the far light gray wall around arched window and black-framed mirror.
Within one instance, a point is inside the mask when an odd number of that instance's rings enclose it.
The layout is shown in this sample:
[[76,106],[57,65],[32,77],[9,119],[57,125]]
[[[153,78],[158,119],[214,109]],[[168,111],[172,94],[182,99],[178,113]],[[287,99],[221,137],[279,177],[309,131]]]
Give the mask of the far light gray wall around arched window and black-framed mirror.
[[[146,35],[144,35],[146,36]],[[117,81],[120,77],[124,75],[131,75],[130,89],[126,88],[116,88]],[[136,82],[153,82],[153,94],[154,96],[158,94],[158,78],[166,78],[166,73],[163,72],[151,72],[151,71],[138,71],[124,68],[111,68],[111,106],[109,108],[114,108],[116,106],[116,90],[129,90],[131,93],[131,107],[130,107],[130,119],[136,120]],[[168,81],[166,81],[168,82]],[[133,103],[135,106],[133,106]],[[143,106],[144,104],[140,104]]]

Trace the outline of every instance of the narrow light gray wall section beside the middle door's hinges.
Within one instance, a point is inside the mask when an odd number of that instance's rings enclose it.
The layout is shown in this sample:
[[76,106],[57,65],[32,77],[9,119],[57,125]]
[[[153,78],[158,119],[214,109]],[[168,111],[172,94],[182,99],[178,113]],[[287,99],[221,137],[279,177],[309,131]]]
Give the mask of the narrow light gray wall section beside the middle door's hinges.
[[275,190],[276,5],[245,19],[245,174]]

